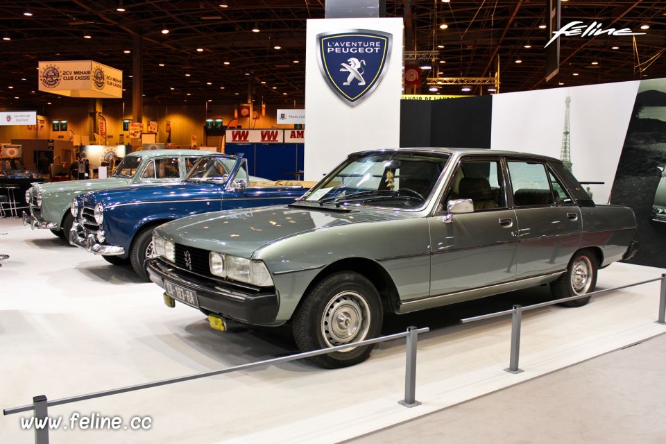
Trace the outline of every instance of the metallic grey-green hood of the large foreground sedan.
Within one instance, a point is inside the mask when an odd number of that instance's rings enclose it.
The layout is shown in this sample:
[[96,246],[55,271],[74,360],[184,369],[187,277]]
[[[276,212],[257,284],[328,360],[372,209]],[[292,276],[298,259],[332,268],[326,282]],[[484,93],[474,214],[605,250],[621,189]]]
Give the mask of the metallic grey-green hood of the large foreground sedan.
[[304,232],[400,218],[395,212],[278,205],[187,216],[161,225],[155,234],[176,244],[251,257],[257,248]]

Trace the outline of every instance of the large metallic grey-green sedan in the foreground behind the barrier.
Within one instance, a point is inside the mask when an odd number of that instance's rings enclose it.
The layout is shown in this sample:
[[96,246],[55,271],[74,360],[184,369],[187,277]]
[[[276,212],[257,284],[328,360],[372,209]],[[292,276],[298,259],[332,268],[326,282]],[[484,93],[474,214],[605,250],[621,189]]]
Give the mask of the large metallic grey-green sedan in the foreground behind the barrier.
[[[325,368],[363,361],[384,312],[408,313],[550,284],[595,289],[631,257],[636,221],[595,205],[562,162],[487,149],[350,155],[296,203],[189,216],[153,234],[148,273],[167,305],[253,325],[291,323]],[[588,298],[567,302],[579,306]]]

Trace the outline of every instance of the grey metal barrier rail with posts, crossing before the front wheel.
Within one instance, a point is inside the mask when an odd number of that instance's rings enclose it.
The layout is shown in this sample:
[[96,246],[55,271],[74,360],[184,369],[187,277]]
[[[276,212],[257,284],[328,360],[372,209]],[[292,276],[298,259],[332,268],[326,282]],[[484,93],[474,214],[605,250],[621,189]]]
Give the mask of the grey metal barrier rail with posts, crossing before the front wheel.
[[[370,345],[379,342],[393,341],[393,339],[407,338],[407,347],[405,350],[405,371],[404,371],[404,399],[398,401],[398,404],[404,407],[416,407],[421,403],[416,400],[416,343],[418,341],[418,334],[429,332],[429,327],[417,328],[407,327],[404,333],[389,334],[387,336],[379,336],[378,338],[366,339],[365,341],[355,342],[354,345]],[[21,413],[22,411],[34,410],[36,419],[44,420],[49,416],[49,407],[56,405],[70,404],[71,402],[91,400],[94,398],[103,398],[104,396],[119,395],[120,393],[127,393],[130,391],[144,390],[144,388],[165,386],[168,384],[176,384],[177,382],[191,381],[192,379],[200,379],[215,375],[223,375],[225,373],[233,373],[239,370],[248,370],[250,368],[269,366],[271,364],[281,364],[282,362],[297,361],[308,357],[327,355],[330,352],[337,350],[345,350],[350,348],[349,344],[336,345],[331,348],[323,348],[321,350],[313,350],[311,352],[298,353],[296,355],[285,356],[275,359],[266,359],[264,361],[257,361],[250,364],[241,364],[221,370],[214,370],[206,373],[197,373],[196,375],[174,377],[171,379],[162,379],[161,381],[147,382],[145,384],[137,384],[134,386],[127,386],[121,388],[114,388],[112,390],[98,391],[95,393],[87,393],[86,395],[71,396],[70,398],[61,398],[59,400],[49,401],[46,395],[39,395],[33,397],[33,403],[24,405],[22,407],[11,407],[3,409],[3,415],[13,415]],[[35,427],[35,443],[36,444],[49,444],[49,428],[37,429]]]

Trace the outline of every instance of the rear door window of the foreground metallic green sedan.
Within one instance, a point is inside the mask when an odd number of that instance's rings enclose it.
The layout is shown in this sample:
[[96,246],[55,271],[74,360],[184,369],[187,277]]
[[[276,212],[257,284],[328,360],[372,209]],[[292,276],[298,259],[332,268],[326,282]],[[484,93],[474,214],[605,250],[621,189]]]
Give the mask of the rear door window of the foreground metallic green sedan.
[[553,205],[553,193],[544,164],[509,161],[513,203],[518,207]]

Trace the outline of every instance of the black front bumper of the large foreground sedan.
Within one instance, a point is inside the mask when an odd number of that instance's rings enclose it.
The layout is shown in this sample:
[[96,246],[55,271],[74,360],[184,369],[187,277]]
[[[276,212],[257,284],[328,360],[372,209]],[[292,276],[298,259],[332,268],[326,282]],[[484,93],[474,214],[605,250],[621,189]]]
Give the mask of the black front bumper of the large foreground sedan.
[[275,289],[252,291],[225,286],[216,280],[187,273],[159,258],[146,261],[148,277],[164,288],[167,279],[180,287],[196,291],[200,309],[225,318],[253,325],[275,325],[280,301]]

